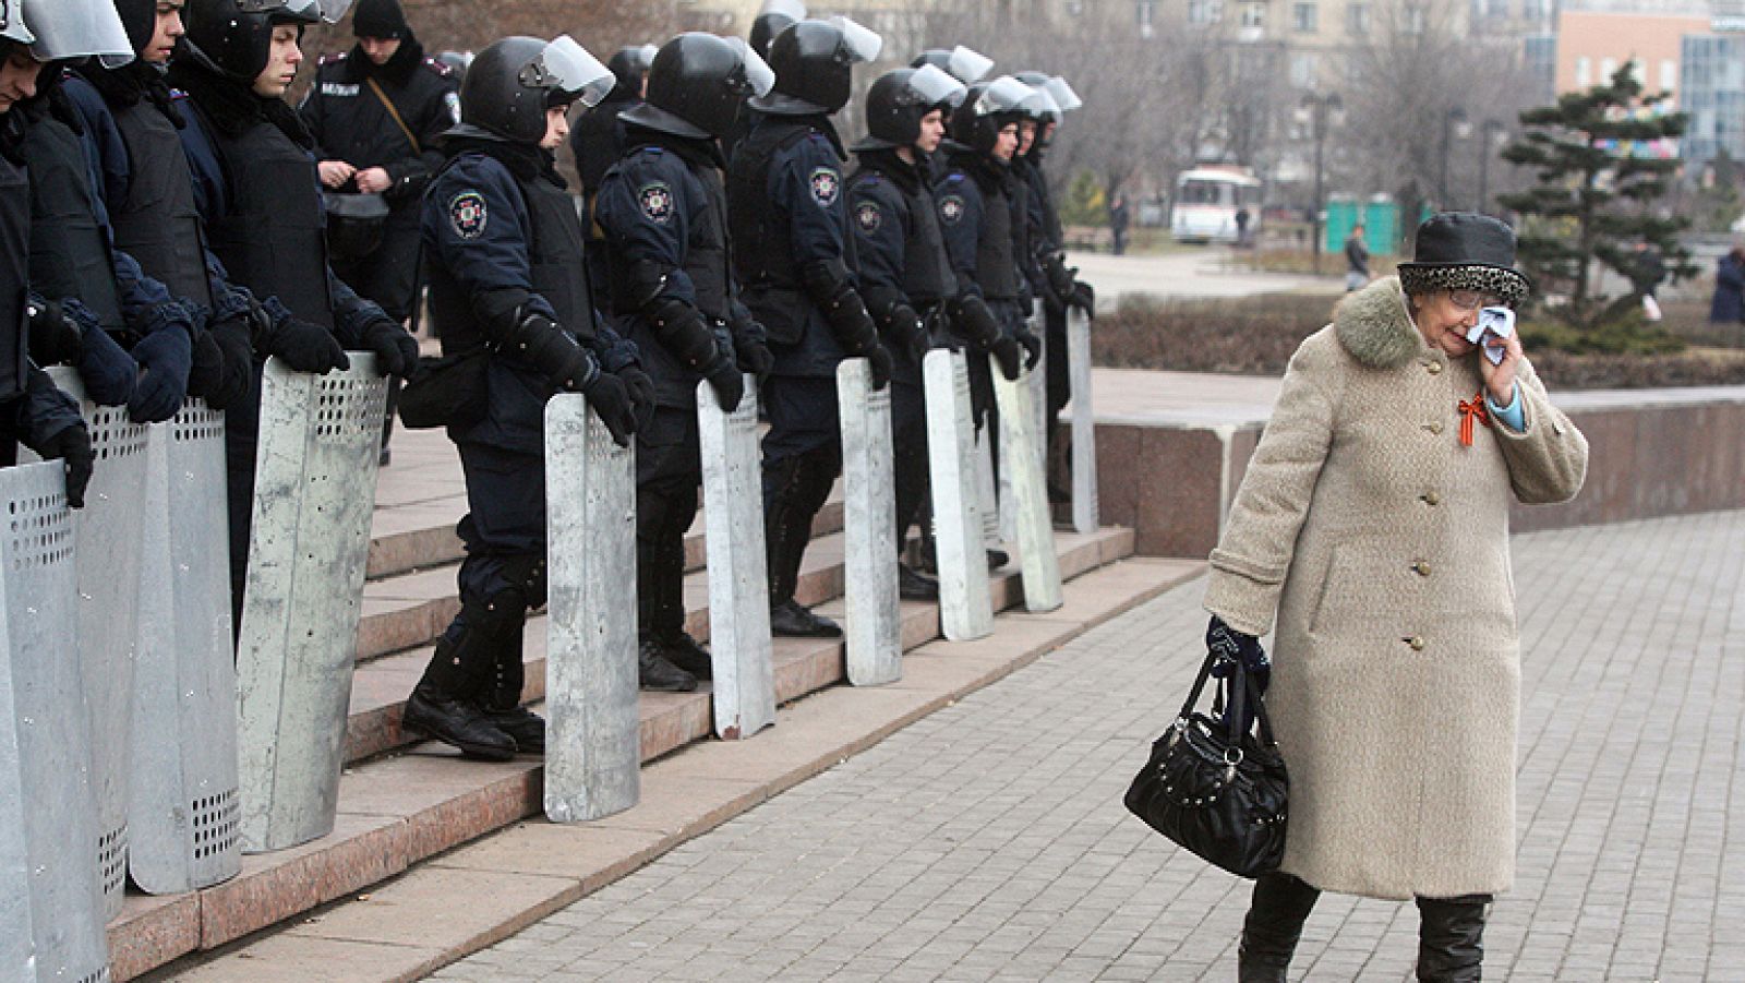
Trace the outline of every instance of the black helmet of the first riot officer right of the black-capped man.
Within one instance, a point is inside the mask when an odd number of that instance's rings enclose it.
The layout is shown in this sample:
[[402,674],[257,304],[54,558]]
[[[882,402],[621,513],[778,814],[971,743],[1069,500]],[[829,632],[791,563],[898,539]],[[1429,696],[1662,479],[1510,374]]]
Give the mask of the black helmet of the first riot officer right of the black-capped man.
[[478,52],[461,84],[461,126],[511,143],[537,145],[546,110],[597,105],[612,91],[612,73],[574,38],[506,37]]

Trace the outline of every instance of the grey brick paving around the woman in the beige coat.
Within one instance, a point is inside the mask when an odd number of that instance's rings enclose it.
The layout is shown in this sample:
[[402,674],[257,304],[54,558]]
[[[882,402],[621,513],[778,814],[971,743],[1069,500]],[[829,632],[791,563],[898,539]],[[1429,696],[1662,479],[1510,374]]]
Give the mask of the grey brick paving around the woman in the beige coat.
[[[1745,980],[1745,512],[1520,536],[1520,876],[1492,980]],[[1246,890],[1120,807],[1202,581],[436,980],[1234,980]],[[1408,904],[1328,896],[1297,974],[1406,980]]]

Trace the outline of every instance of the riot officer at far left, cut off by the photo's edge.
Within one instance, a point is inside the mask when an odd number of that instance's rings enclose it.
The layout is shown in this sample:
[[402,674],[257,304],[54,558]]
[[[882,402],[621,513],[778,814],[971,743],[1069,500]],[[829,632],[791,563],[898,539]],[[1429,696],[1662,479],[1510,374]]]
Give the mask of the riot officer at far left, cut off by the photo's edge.
[[37,37],[16,2],[0,2],[0,466],[17,463],[17,445],[66,461],[66,501],[84,505],[91,482],[91,435],[79,403],[54,388],[26,354],[37,333],[77,330],[58,311],[31,304],[30,178],[19,147],[24,127],[14,112],[37,91],[42,63]]

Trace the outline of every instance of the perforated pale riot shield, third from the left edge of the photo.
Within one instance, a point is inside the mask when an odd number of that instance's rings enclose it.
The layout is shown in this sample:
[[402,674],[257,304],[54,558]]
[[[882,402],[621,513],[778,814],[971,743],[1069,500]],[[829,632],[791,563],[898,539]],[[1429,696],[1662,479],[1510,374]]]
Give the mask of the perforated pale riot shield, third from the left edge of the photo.
[[188,400],[150,431],[127,871],[180,894],[243,870],[223,412]]

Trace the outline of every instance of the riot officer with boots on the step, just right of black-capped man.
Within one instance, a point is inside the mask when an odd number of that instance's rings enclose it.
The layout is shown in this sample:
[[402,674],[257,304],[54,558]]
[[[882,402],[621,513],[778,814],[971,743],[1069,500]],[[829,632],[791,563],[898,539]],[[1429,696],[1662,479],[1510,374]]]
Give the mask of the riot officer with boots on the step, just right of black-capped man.
[[633,346],[595,321],[581,220],[553,169],[571,103],[597,103],[611,86],[567,35],[492,44],[466,73],[448,162],[424,196],[431,320],[447,354],[485,358],[485,400],[448,421],[469,510],[461,613],[405,723],[476,758],[544,749],[544,721],[520,705],[522,632],[546,601],[544,402],[585,393],[628,443],[632,389],[653,398]]

